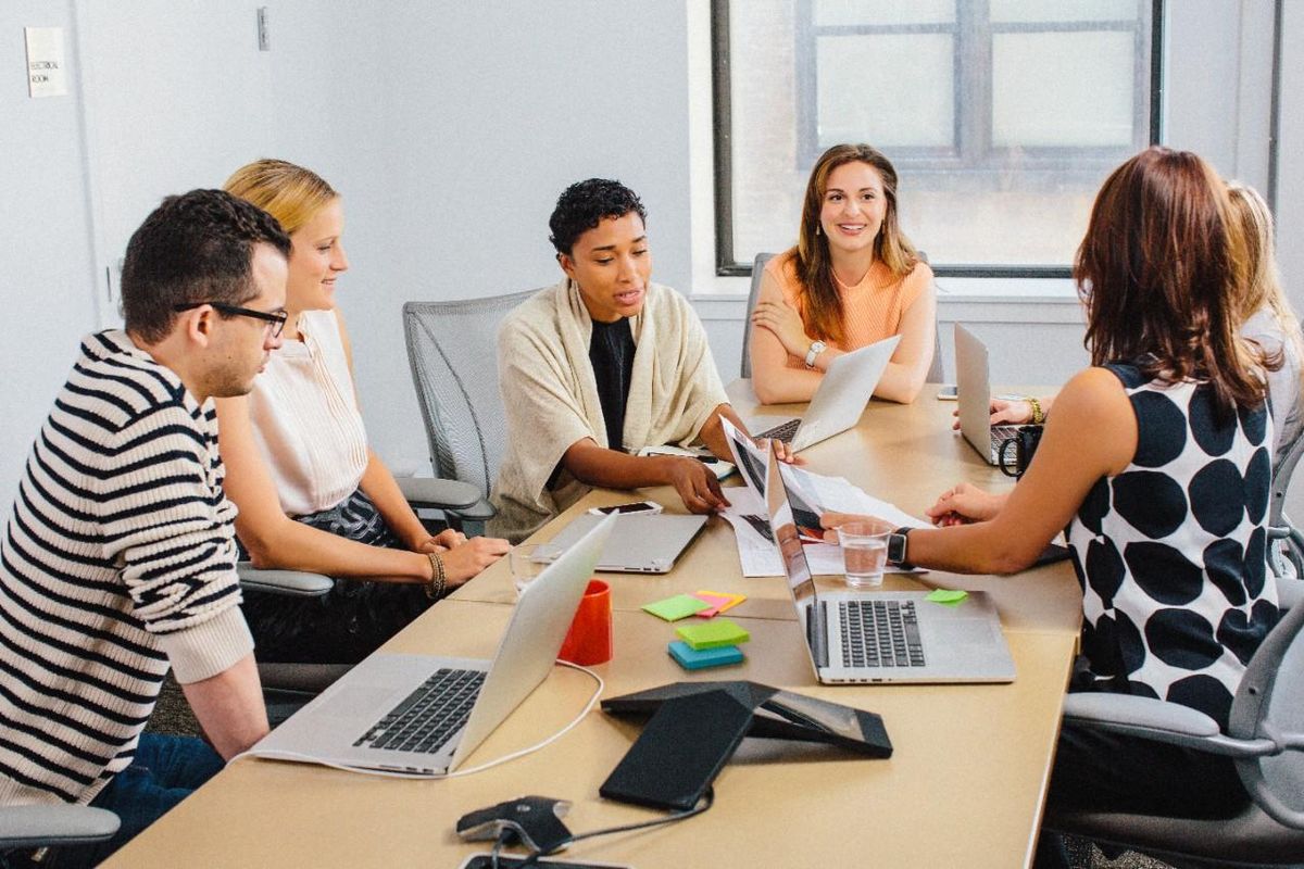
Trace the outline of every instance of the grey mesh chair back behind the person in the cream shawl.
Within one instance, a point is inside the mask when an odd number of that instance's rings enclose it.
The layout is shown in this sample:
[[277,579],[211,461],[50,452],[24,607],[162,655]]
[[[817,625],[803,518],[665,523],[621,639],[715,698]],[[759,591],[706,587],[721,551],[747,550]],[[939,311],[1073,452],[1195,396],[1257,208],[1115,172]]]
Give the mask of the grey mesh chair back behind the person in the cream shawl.
[[403,306],[408,365],[434,473],[468,482],[486,498],[507,447],[498,323],[536,292]]

